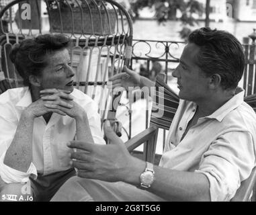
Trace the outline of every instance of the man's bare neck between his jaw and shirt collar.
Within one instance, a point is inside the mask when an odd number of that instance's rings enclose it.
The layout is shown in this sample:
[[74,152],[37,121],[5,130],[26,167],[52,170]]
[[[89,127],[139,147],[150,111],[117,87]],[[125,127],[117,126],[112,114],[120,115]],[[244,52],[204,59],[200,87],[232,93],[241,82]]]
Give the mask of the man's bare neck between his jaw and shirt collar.
[[200,118],[210,116],[220,107],[222,107],[227,101],[234,97],[234,91],[224,91],[224,93],[212,93],[206,99],[201,101],[195,101],[198,105],[198,114]]

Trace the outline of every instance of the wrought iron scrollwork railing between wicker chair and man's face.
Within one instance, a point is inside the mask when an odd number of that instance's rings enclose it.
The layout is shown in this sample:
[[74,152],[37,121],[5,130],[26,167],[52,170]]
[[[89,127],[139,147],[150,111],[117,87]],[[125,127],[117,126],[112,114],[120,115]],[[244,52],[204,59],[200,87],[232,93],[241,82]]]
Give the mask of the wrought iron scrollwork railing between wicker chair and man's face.
[[[171,73],[173,69],[177,67],[184,46],[185,42],[165,40],[133,40],[131,68],[140,73],[140,75],[151,79],[153,79],[157,73],[164,73],[165,77],[167,77],[166,82],[169,82],[171,81]],[[156,62],[157,68],[154,65]],[[154,74],[151,74],[153,71],[155,71]],[[134,126],[136,128],[139,127],[141,130],[146,129],[149,126],[151,116],[151,101],[146,97],[142,97],[142,99],[144,99],[144,103],[142,103],[142,105],[144,105],[142,108],[143,111],[138,109],[133,110],[132,102],[129,102],[131,99],[126,100],[127,103],[120,103],[120,105],[126,106],[126,111],[129,115],[129,126],[128,128],[124,128],[128,138],[131,138],[138,132],[132,132],[132,130],[134,130]],[[144,114],[145,122],[133,122],[132,116],[134,111]],[[160,135],[161,133],[163,134],[162,136]],[[165,142],[165,136],[165,130],[159,132],[159,141],[161,144]]]

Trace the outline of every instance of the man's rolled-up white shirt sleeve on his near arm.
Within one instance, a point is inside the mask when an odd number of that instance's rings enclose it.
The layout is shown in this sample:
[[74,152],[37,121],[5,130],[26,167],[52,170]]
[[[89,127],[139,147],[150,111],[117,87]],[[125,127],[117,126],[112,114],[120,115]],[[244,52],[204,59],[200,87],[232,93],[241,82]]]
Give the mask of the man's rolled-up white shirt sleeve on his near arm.
[[249,132],[228,132],[204,153],[196,172],[208,178],[212,202],[231,200],[249,177],[255,167],[254,144]]

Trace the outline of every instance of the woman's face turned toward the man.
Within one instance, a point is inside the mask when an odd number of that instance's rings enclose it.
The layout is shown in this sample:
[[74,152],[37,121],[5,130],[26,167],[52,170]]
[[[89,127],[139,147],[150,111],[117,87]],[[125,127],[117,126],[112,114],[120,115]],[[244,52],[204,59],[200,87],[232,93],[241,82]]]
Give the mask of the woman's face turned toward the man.
[[73,77],[69,51],[65,48],[46,56],[47,66],[39,77],[41,89],[66,89],[73,91]]

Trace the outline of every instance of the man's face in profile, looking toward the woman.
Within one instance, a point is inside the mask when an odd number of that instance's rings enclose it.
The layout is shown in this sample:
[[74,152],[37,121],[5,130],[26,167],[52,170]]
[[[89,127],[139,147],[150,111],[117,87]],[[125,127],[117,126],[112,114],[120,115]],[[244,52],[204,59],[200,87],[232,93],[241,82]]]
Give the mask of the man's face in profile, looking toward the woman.
[[209,78],[204,76],[196,64],[199,51],[200,47],[196,44],[187,44],[181,54],[179,65],[173,72],[173,77],[178,79],[179,97],[187,101],[196,102],[208,96]]

